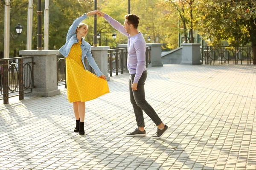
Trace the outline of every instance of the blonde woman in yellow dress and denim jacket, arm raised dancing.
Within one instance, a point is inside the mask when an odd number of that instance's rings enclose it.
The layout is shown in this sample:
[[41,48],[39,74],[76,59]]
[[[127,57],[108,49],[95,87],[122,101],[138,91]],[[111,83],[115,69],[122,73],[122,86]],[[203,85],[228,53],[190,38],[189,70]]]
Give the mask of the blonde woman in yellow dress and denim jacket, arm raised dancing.
[[[85,102],[109,93],[106,77],[93,59],[91,46],[82,38],[87,35],[88,26],[81,21],[91,14],[96,13],[90,11],[73,22],[67,32],[65,45],[59,49],[66,57],[67,99],[70,103],[73,102],[76,116],[74,132],[79,132],[80,135],[84,135]],[[97,76],[86,70],[85,56]]]

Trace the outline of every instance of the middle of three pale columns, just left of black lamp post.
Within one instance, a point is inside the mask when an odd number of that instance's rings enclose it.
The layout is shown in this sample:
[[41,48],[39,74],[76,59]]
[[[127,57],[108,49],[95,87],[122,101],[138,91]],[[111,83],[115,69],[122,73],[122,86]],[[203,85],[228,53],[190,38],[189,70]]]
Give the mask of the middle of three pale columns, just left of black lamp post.
[[28,24],[27,24],[27,50],[32,50],[32,28],[33,28],[33,0],[29,0]]

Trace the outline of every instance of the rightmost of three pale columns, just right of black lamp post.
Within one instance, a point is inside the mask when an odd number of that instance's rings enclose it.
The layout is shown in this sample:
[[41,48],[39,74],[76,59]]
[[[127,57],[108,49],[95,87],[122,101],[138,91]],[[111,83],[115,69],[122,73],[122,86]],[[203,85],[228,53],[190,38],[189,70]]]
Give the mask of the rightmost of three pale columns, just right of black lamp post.
[[44,50],[49,48],[49,0],[45,0],[44,9]]

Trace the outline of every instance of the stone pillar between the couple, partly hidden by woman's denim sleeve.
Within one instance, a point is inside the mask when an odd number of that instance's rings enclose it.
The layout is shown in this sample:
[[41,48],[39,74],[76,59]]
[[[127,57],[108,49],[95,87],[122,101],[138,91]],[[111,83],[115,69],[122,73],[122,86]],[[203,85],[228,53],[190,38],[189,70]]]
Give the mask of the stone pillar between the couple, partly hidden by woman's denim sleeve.
[[107,81],[110,80],[108,76],[108,49],[110,47],[91,47],[93,58],[98,65],[100,71],[106,76]]

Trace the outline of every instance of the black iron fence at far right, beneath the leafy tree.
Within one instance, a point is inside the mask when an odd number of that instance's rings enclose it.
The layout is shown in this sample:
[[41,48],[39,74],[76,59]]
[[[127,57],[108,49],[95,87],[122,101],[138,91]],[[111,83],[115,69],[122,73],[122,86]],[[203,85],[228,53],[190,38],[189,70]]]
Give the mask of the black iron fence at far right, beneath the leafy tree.
[[253,48],[249,46],[202,46],[201,56],[203,64],[253,64]]

